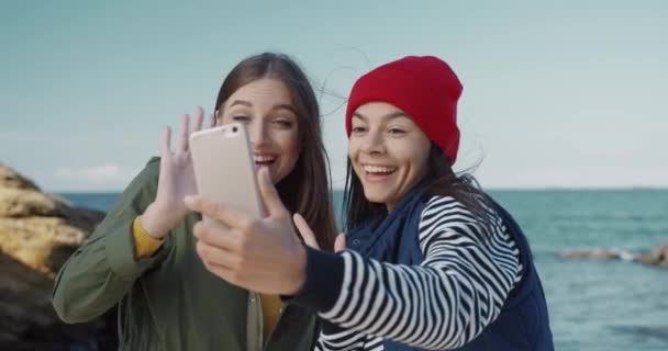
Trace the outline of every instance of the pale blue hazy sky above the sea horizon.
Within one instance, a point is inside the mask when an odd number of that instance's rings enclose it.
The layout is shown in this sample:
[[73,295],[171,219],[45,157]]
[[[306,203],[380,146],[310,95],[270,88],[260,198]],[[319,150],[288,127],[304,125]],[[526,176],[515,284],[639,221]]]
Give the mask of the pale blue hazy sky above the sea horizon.
[[355,78],[436,55],[464,82],[457,168],[485,188],[668,186],[665,1],[12,1],[0,162],[49,191],[119,191],[226,72],[292,55],[321,94],[335,188]]

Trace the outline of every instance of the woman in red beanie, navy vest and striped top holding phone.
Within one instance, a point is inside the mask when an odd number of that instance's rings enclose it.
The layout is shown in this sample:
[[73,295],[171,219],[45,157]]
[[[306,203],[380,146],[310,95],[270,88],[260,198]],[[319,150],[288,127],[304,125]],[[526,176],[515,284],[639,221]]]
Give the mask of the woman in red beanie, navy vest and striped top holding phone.
[[346,111],[347,249],[337,253],[318,250],[319,228],[290,220],[264,170],[264,219],[187,199],[230,226],[196,225],[207,268],[316,310],[320,350],[553,350],[522,230],[452,169],[461,89],[436,57],[404,57],[357,80]]

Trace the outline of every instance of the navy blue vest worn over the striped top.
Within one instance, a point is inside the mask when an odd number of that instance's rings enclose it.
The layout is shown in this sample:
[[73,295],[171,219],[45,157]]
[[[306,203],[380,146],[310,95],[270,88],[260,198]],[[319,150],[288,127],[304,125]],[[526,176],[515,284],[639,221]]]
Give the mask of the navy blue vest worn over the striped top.
[[[425,206],[424,188],[415,186],[378,225],[369,224],[346,234],[346,244],[365,257],[383,262],[416,265],[424,260],[417,241],[417,226]],[[545,294],[522,229],[512,216],[488,197],[515,240],[522,281],[511,291],[499,317],[478,337],[457,350],[554,350]],[[386,340],[388,351],[422,350]]]

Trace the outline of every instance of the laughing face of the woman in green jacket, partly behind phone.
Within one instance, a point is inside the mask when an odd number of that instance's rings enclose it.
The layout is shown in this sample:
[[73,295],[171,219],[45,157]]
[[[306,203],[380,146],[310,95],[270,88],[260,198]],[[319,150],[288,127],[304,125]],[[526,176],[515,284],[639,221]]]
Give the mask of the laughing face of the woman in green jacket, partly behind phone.
[[269,168],[276,184],[294,169],[299,159],[299,124],[290,90],[271,78],[261,78],[237,89],[225,101],[219,124],[246,124],[255,165]]

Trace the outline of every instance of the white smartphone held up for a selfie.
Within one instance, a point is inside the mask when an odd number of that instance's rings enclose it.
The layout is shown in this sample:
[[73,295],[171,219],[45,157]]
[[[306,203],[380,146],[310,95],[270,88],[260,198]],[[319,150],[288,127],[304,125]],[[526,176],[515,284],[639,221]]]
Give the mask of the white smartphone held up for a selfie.
[[[198,193],[252,217],[264,217],[246,125],[235,122],[194,132],[189,141]],[[203,220],[225,227],[207,216]]]

